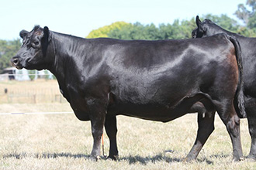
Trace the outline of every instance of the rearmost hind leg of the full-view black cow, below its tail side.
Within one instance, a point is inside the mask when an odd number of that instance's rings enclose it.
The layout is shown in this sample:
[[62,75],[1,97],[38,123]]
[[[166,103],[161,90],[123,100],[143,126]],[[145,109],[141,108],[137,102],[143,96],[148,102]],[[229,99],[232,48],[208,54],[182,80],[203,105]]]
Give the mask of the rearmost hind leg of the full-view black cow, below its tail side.
[[[221,106],[221,104],[219,104],[219,106]],[[222,107],[217,107],[216,110],[220,115],[220,119],[225,124],[228,133],[230,134],[233,146],[234,161],[243,160],[244,157],[240,141],[240,118],[237,116],[233,102]]]

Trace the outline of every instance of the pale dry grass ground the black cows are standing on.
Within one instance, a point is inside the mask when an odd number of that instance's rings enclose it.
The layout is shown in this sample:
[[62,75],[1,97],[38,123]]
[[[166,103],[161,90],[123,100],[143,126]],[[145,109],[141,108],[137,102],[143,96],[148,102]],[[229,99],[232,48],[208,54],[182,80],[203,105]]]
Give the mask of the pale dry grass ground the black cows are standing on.
[[[71,108],[67,103],[0,104],[1,113],[45,111]],[[218,116],[198,159],[182,162],[195,141],[196,119],[196,114],[187,114],[164,124],[118,116],[119,160],[102,156],[92,162],[90,123],[74,114],[0,115],[0,169],[256,169],[255,162],[232,162],[230,137]],[[246,119],[241,120],[241,137],[247,155],[251,139]],[[104,139],[108,153],[106,134]]]

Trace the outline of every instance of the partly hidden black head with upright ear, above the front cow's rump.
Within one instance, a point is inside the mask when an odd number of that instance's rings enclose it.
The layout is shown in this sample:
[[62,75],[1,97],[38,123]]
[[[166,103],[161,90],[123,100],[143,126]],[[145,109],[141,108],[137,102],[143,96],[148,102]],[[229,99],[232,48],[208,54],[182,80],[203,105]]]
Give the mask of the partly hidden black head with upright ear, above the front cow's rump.
[[197,28],[192,31],[192,38],[202,38],[206,36],[213,36],[217,33],[223,32],[220,26],[217,26],[214,22],[209,19],[201,20],[199,16],[196,16],[195,23]]

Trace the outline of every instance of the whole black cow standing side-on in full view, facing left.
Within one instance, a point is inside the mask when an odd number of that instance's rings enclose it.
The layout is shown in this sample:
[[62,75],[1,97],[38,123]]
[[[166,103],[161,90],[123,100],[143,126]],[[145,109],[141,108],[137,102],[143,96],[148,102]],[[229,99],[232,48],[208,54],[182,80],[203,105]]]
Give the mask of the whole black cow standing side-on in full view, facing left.
[[[81,121],[91,121],[91,158],[99,158],[105,125],[109,158],[116,159],[116,115],[167,122],[191,111],[198,136],[187,160],[195,159],[213,131],[213,110],[230,134],[234,160],[243,158],[240,119],[240,46],[227,35],[185,40],[82,39],[35,26],[22,30],[21,49],[11,61],[18,69],[50,70]],[[237,54],[237,55],[236,55]],[[196,104],[199,103],[199,104]],[[202,107],[198,107],[202,104]],[[167,130],[168,131],[168,130]],[[200,145],[200,147],[199,147]]]

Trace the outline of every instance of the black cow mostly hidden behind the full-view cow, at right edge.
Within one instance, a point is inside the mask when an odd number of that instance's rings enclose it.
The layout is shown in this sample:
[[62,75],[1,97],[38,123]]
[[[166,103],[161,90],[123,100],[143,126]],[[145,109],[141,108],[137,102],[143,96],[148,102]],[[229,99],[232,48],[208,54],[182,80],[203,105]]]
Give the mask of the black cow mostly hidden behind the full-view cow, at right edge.
[[196,16],[195,22],[197,28],[192,31],[193,38],[213,36],[224,32],[240,42],[244,68],[245,110],[251,135],[251,150],[247,158],[256,160],[256,38],[248,38],[228,32],[209,19],[201,22],[199,16]]

